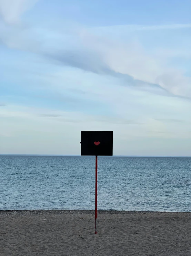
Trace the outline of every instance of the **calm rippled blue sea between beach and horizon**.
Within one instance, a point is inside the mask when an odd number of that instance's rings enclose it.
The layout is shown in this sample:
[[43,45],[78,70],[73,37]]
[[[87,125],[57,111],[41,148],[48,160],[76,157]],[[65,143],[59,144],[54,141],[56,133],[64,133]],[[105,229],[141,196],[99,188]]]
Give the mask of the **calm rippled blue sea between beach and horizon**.
[[[94,209],[94,157],[0,156],[0,210]],[[191,158],[98,157],[98,209],[191,212]]]

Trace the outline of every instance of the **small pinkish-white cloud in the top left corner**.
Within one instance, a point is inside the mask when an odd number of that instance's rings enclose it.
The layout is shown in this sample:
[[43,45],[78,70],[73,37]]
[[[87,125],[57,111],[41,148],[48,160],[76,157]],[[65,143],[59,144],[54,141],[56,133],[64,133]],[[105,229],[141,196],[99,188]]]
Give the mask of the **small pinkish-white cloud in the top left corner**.
[[18,23],[23,12],[38,0],[0,0],[0,15],[8,24]]

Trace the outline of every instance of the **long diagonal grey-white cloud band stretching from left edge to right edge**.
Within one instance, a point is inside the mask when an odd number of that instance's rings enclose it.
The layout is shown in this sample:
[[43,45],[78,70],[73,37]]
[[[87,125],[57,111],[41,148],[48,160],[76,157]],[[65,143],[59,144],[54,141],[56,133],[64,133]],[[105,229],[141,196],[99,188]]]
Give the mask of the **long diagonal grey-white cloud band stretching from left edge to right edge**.
[[[142,27],[130,25],[132,28]],[[175,24],[163,26],[147,26],[149,29],[173,29],[189,27],[190,24]],[[115,26],[114,26],[115,27]],[[128,26],[127,26],[128,27]],[[123,26],[123,29],[125,26]],[[144,27],[145,28],[145,27]],[[104,28],[109,31],[110,27]],[[128,76],[135,80],[134,85],[153,90],[156,84],[161,88],[169,91],[173,95],[191,97],[191,79],[184,76],[187,70],[180,70],[178,67],[169,65],[169,58],[180,54],[180,49],[163,51],[162,54],[156,54],[154,51],[146,51],[139,41],[130,38],[129,41],[114,39],[98,33],[99,29],[79,29],[78,32],[73,30],[71,34],[62,34],[61,32],[51,32],[41,28],[32,30],[1,30],[2,41],[10,48],[27,50],[46,56],[49,61],[61,63],[65,66],[76,67],[89,72],[118,76],[119,74],[127,75],[123,77],[124,82],[129,85]],[[7,33],[8,32],[8,33]],[[123,33],[125,30],[123,30]],[[51,36],[49,36],[51,35]],[[47,40],[48,37],[48,40]],[[160,51],[162,51],[160,49]],[[189,50],[184,49],[184,56],[189,56]],[[189,58],[189,57],[188,57]]]

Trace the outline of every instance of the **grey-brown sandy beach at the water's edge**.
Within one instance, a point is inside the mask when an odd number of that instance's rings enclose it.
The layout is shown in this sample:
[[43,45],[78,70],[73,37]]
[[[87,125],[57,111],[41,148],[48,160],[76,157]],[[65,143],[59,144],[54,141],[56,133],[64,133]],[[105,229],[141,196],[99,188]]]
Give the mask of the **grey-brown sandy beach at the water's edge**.
[[191,213],[0,211],[0,255],[190,256]]

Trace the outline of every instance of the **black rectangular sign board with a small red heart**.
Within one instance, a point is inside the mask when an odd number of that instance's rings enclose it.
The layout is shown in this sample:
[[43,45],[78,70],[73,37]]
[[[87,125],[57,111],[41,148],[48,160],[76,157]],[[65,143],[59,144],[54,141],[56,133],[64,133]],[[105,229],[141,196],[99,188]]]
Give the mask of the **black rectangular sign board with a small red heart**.
[[81,131],[81,156],[113,156],[113,132]]

